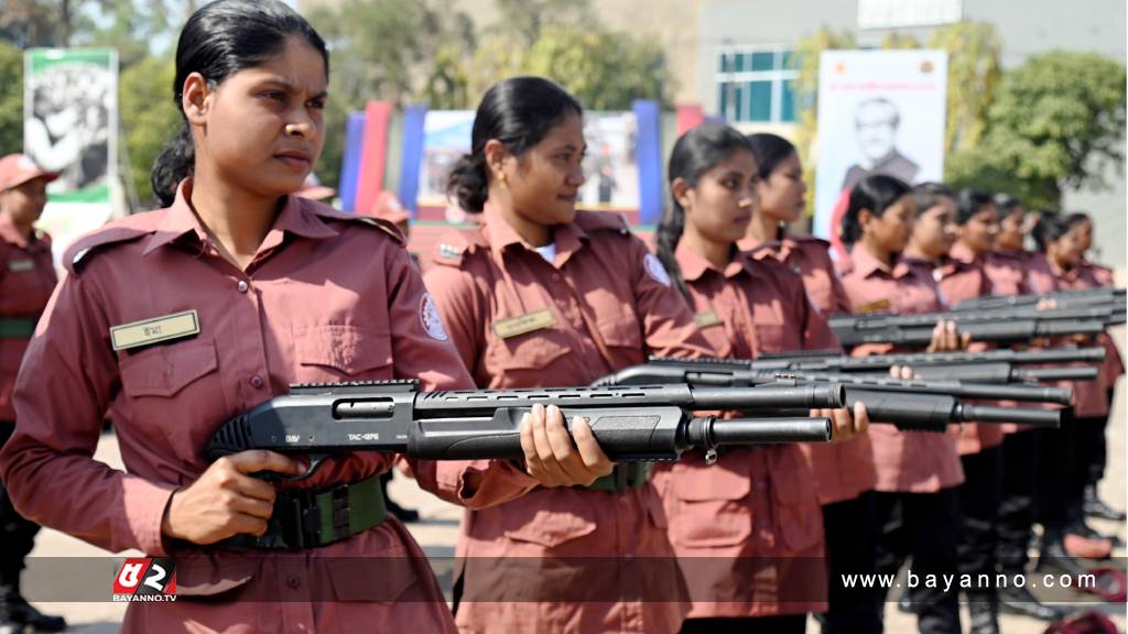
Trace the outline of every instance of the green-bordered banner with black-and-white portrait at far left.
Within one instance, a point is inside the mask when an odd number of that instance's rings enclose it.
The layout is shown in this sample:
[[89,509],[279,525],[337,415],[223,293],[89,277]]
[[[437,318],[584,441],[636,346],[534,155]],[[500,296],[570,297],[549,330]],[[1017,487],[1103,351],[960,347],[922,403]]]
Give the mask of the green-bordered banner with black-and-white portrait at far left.
[[60,175],[38,224],[58,254],[114,212],[117,52],[32,49],[24,68],[24,153]]

